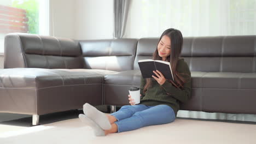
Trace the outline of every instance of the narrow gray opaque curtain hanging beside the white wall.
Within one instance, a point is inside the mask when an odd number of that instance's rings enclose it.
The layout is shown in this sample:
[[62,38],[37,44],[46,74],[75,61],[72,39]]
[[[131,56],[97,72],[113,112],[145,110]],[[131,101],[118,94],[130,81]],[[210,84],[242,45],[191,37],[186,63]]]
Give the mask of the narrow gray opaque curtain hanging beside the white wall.
[[114,0],[114,38],[123,38],[130,0]]

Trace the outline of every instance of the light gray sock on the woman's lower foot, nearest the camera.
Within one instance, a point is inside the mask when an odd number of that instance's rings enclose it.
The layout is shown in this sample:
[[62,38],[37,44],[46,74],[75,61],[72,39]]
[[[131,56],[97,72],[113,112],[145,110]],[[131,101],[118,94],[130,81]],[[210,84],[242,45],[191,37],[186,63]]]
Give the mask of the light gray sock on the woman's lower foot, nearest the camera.
[[96,136],[105,136],[105,132],[103,129],[101,129],[100,126],[98,126],[94,121],[92,121],[90,118],[86,117],[83,114],[80,114],[78,116],[80,118],[80,120],[85,124],[85,125],[89,125],[93,130],[94,130],[94,134]]

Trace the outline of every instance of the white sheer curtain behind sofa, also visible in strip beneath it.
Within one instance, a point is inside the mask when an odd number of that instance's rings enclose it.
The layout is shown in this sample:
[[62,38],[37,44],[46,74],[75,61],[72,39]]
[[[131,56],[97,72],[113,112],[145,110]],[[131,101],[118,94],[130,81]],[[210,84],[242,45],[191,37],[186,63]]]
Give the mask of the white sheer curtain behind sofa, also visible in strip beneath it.
[[[131,0],[124,38],[160,37],[167,28],[184,37],[256,35],[255,0]],[[254,121],[256,115],[179,111],[178,117]]]

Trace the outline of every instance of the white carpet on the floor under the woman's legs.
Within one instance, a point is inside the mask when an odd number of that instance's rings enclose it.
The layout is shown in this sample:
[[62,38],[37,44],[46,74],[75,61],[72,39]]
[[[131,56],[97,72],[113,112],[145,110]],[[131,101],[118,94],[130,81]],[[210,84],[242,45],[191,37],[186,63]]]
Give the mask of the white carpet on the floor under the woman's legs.
[[176,119],[123,133],[94,136],[78,118],[8,131],[0,143],[256,143],[256,124]]

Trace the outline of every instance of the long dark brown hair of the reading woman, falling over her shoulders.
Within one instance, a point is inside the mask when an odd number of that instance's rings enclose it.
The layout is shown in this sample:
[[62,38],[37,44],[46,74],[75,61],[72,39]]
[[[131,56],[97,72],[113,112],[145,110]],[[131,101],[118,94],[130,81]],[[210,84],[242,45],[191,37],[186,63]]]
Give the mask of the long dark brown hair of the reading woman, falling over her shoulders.
[[[182,33],[181,31],[179,31],[178,29],[174,29],[174,28],[169,28],[169,29],[166,29],[159,41],[158,41],[158,44],[160,43],[160,40],[162,39],[162,37],[166,35],[167,37],[170,38],[171,40],[171,55],[168,56],[166,58],[166,60],[168,62],[170,62],[171,64],[171,68],[172,68],[172,73],[173,73],[173,79],[174,81],[172,80],[167,80],[167,81],[170,81],[175,87],[177,88],[183,88],[183,85],[185,83],[185,79],[184,77],[181,76],[181,74],[179,74],[176,70],[176,66],[177,66],[177,62],[179,60],[179,57],[181,56],[181,51],[182,51],[182,45],[183,45],[183,37],[182,37]],[[159,56],[158,54],[158,46],[156,46],[156,50],[155,52],[153,53],[153,59],[154,60],[162,60],[162,58]],[[146,82],[146,85],[144,86],[144,89],[143,89],[143,92],[145,93],[147,91],[147,89],[149,87],[152,86],[152,80],[153,78],[148,78],[146,79],[147,82]]]

